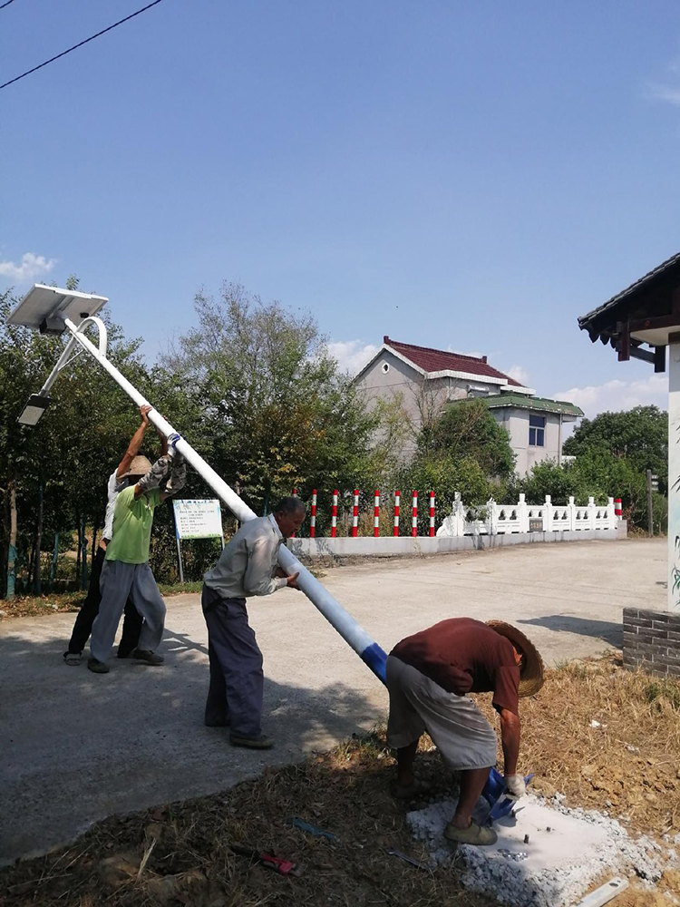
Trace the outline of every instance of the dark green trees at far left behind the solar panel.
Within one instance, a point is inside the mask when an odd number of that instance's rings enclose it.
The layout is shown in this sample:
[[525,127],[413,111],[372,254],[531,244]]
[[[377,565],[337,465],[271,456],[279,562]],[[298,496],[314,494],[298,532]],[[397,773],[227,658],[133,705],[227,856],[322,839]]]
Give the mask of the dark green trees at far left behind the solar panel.
[[[75,278],[70,282],[77,286]],[[43,385],[68,339],[8,326],[6,318],[17,301],[9,291],[0,296],[0,487],[15,488],[16,548],[20,562],[29,565],[29,579],[33,576],[39,587],[43,540],[75,526],[80,557],[84,524],[95,531],[102,525],[108,477],[139,416],[92,357],[80,354],[57,378],[53,404],[38,424],[17,424],[28,396]],[[104,320],[111,361],[134,383],[146,380],[138,353],[141,341],[126,339],[110,318]],[[11,513],[5,508],[3,562],[5,551],[12,553],[10,533]]]

